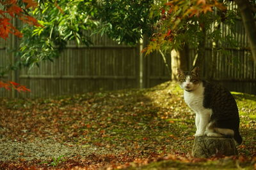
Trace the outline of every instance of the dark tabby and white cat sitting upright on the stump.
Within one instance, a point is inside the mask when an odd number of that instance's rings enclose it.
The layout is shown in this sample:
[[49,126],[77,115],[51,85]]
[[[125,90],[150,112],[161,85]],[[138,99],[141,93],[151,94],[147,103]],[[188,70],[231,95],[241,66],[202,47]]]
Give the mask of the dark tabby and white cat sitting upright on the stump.
[[199,68],[192,71],[178,69],[178,81],[184,89],[184,100],[195,111],[195,136],[230,137],[238,144],[239,113],[232,94],[221,85],[214,85],[199,78]]

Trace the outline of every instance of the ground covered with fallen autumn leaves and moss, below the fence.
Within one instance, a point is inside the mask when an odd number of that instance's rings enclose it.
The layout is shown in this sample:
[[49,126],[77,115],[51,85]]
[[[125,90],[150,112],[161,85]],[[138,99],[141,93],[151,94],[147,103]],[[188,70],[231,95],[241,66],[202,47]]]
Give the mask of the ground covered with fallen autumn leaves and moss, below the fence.
[[191,156],[195,114],[172,82],[45,99],[0,98],[0,169],[256,169],[256,96],[232,93],[238,156]]

